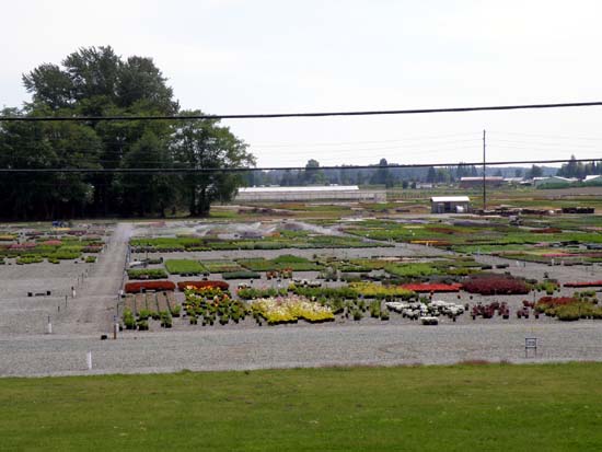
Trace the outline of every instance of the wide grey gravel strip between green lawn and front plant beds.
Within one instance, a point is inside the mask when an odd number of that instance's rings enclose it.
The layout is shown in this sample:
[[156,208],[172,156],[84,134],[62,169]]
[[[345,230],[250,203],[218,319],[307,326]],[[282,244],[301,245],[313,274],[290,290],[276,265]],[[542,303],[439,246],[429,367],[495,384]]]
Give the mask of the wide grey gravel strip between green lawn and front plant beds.
[[[525,337],[537,356],[524,357]],[[92,351],[93,369],[86,368]],[[228,331],[0,336],[0,375],[253,370],[323,366],[445,364],[466,360],[602,360],[602,325],[296,325]]]

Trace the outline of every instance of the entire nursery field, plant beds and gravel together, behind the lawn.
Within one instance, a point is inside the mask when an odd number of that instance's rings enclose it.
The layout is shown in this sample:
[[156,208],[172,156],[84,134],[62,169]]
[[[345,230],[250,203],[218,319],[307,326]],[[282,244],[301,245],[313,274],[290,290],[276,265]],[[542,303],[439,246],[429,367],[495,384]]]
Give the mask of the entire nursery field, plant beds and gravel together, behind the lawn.
[[[523,221],[5,225],[0,374],[86,373],[86,349],[97,373],[602,360],[599,217]],[[40,247],[82,240],[99,252],[55,264]],[[43,262],[18,264],[21,247]],[[119,340],[99,340],[115,324]],[[536,356],[526,337],[541,340]]]

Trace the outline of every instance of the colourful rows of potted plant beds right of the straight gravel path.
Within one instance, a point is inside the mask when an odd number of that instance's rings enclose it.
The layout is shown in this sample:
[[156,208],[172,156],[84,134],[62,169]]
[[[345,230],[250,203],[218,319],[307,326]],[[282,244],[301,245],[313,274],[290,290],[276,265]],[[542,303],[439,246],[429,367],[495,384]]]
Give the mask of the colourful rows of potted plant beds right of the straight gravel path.
[[566,229],[437,216],[141,223],[129,245],[144,269],[128,270],[121,325],[600,320],[602,234],[590,217],[562,218]]

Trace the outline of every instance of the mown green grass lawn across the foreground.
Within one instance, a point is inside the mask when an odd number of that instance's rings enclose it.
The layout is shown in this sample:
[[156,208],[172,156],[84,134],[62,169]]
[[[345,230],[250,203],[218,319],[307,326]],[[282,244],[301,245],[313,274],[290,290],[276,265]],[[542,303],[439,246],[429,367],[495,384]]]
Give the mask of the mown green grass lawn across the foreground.
[[0,380],[1,450],[593,451],[602,363]]

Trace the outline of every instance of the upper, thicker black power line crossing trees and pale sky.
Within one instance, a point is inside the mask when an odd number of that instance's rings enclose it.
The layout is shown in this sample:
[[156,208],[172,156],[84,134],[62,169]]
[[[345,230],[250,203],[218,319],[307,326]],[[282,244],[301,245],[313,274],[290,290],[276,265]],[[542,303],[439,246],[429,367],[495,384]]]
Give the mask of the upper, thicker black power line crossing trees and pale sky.
[[158,116],[0,116],[0,121],[95,121],[95,120],[207,120],[207,119],[273,119],[306,118],[327,116],[381,116],[381,115],[420,115],[433,113],[498,112],[508,109],[544,109],[602,106],[602,102],[569,102],[556,104],[493,105],[475,107],[377,109],[354,112],[313,112],[313,113],[265,113],[234,115],[158,115]]

